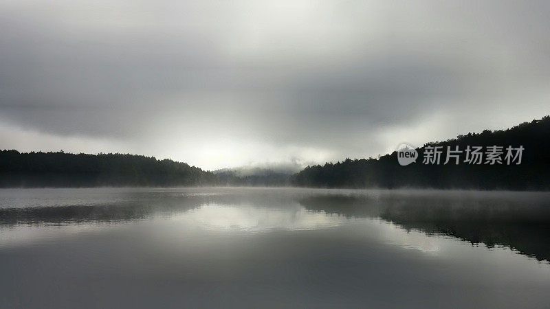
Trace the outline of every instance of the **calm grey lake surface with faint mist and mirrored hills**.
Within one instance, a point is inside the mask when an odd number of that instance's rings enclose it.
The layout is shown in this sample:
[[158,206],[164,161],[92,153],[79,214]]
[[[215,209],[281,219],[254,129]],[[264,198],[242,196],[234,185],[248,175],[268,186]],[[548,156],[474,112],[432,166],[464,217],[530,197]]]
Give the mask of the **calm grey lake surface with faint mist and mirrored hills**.
[[0,307],[548,308],[550,194],[0,190]]

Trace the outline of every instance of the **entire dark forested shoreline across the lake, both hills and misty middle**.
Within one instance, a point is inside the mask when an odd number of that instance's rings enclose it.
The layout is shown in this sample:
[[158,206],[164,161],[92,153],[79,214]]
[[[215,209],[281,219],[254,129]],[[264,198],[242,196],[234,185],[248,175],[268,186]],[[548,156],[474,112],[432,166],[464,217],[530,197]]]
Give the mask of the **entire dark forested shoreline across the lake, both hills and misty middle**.
[[[501,161],[467,163],[465,150],[478,146],[502,147]],[[461,155],[445,164],[448,147]],[[458,147],[458,148],[456,148]],[[506,148],[522,148],[521,162],[505,159]],[[441,161],[434,149],[443,150]],[[550,116],[524,122],[507,130],[484,130],[456,139],[432,142],[417,148],[415,163],[402,166],[397,151],[377,158],[345,159],[308,166],[289,175],[272,170],[239,174],[212,172],[186,163],[155,157],[109,153],[99,155],[60,152],[0,151],[0,187],[97,187],[97,186],[285,186],[300,187],[419,187],[478,190],[550,190]],[[435,151],[437,152],[437,151]],[[430,157],[431,155],[431,157]],[[485,154],[488,155],[488,154]],[[514,155],[517,155],[514,154]],[[471,158],[470,158],[471,159]],[[508,158],[510,159],[510,158]]]

